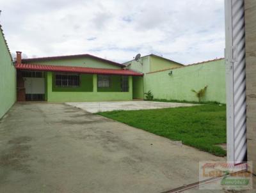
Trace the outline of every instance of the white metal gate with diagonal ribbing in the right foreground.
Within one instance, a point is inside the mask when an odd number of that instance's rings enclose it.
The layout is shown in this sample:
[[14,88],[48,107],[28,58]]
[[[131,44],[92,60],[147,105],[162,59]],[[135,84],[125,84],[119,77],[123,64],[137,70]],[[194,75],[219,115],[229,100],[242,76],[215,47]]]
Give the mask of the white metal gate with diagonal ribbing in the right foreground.
[[227,160],[246,160],[244,1],[225,0]]

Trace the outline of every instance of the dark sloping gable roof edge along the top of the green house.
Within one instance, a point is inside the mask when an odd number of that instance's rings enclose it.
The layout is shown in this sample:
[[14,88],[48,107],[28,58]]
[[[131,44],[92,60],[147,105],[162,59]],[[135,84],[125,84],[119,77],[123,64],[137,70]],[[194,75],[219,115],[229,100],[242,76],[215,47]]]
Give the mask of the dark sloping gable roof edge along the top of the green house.
[[67,55],[67,56],[50,56],[50,57],[42,57],[42,58],[24,58],[22,59],[22,63],[30,63],[36,61],[49,61],[49,60],[56,60],[56,59],[72,59],[72,58],[93,58],[97,59],[99,61],[104,61],[106,63],[109,63],[111,65],[116,65],[120,67],[124,67],[125,65],[122,65],[120,63],[116,63],[115,61],[110,61],[108,59],[99,58],[97,56],[93,56],[91,54],[76,54],[76,55]]

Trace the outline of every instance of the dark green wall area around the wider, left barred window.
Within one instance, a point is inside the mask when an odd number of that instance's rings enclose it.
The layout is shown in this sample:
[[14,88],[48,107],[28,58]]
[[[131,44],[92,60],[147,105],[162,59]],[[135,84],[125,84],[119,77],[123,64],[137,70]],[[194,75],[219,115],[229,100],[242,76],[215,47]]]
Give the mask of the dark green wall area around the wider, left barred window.
[[[55,73],[52,72],[52,82],[55,82]],[[77,87],[58,87],[52,84],[54,92],[92,92],[93,91],[93,74],[80,74],[80,84]]]

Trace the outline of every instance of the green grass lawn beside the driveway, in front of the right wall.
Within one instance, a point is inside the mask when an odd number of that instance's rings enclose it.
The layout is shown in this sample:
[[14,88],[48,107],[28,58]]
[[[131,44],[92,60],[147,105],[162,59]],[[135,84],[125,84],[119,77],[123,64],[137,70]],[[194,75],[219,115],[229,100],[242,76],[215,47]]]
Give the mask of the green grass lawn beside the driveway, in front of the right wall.
[[99,112],[132,127],[224,156],[226,151],[216,144],[226,143],[226,106],[199,105],[140,111]]

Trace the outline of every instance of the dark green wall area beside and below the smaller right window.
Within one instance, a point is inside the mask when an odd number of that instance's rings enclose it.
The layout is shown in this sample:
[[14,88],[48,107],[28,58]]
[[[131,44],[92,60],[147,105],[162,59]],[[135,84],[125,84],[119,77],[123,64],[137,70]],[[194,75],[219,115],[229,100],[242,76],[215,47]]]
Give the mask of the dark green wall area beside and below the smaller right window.
[[98,92],[120,92],[122,91],[122,76],[111,75],[110,76],[110,86],[109,87],[98,87]]

